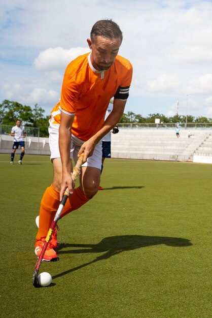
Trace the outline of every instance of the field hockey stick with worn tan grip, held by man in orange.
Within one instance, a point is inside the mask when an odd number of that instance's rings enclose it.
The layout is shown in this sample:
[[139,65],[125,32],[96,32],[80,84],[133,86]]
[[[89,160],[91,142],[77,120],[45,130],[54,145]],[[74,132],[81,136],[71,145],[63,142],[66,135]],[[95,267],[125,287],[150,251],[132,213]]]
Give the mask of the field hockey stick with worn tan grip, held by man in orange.
[[[83,164],[83,158],[84,158],[84,153],[82,153],[82,154],[79,156],[78,161],[77,161],[77,164],[76,164],[76,166],[75,166],[74,169],[73,169],[73,173],[72,173],[72,179],[73,179],[73,181],[76,181],[76,180],[77,180],[77,177],[78,177],[79,174],[80,174],[81,166],[82,166],[82,164]],[[40,287],[39,282],[38,282],[38,272],[39,272],[39,268],[40,268],[40,266],[41,266],[41,262],[42,262],[42,260],[43,260],[43,257],[44,257],[44,254],[45,254],[45,252],[46,252],[46,249],[47,249],[47,246],[48,246],[48,244],[49,244],[49,241],[50,241],[50,239],[51,239],[52,232],[53,232],[54,229],[55,229],[55,226],[56,226],[56,224],[57,224],[57,221],[58,221],[58,219],[59,219],[59,217],[60,217],[60,214],[61,214],[61,212],[62,212],[62,209],[63,209],[63,207],[64,207],[64,205],[65,205],[65,202],[66,202],[66,200],[67,200],[68,197],[69,197],[69,193],[68,193],[68,190],[66,189],[65,192],[64,192],[64,195],[63,195],[63,197],[62,197],[62,201],[60,202],[59,207],[58,207],[58,209],[57,209],[57,212],[56,212],[56,214],[55,214],[55,217],[54,217],[54,219],[53,219],[53,221],[52,221],[52,224],[51,224],[51,227],[50,227],[50,229],[49,229],[49,232],[48,232],[48,234],[47,234],[47,236],[46,236],[44,245],[43,245],[42,250],[41,250],[41,254],[40,254],[40,256],[39,256],[39,258],[38,258],[38,261],[37,261],[37,263],[36,263],[36,268],[34,269],[34,274],[33,274],[33,278],[32,278],[32,284],[33,284],[34,287]]]

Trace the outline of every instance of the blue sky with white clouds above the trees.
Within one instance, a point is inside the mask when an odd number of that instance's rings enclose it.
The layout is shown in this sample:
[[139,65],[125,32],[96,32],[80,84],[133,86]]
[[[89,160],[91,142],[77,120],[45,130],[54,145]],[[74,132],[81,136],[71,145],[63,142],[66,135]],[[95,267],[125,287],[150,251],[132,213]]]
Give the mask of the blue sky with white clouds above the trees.
[[1,0],[0,103],[49,114],[65,67],[104,18],[119,24],[119,54],[133,66],[125,112],[212,117],[212,0]]

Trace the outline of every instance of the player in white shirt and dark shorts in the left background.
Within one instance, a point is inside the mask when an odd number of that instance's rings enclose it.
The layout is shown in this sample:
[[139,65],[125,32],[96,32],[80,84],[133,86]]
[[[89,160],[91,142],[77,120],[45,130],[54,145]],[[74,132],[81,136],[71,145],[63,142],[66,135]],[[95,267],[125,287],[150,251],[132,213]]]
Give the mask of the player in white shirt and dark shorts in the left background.
[[18,147],[20,146],[21,147],[21,154],[20,154],[20,159],[19,159],[18,163],[19,163],[19,165],[21,165],[22,164],[22,158],[24,156],[24,150],[25,150],[24,138],[26,137],[26,131],[25,131],[24,126],[21,125],[21,120],[20,119],[16,120],[16,126],[14,126],[12,128],[10,136],[14,137],[13,150],[11,152],[10,164],[13,165],[16,149],[18,149]]

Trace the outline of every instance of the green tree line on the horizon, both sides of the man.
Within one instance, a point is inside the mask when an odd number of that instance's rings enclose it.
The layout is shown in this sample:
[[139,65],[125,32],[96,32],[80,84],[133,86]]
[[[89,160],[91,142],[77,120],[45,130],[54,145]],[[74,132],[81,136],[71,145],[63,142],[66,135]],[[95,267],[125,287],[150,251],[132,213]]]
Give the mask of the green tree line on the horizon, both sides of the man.
[[[186,118],[187,117],[187,118]],[[5,100],[0,104],[0,124],[14,125],[17,119],[20,119],[25,126],[40,129],[41,137],[48,137],[50,115],[45,116],[45,110],[35,104],[33,108],[30,106],[22,105],[18,102]],[[210,123],[211,118],[204,116],[194,117],[192,115],[174,115],[167,117],[163,114],[149,114],[147,117],[135,114],[131,111],[124,113],[120,123],[154,123],[155,118],[159,118],[163,123]]]

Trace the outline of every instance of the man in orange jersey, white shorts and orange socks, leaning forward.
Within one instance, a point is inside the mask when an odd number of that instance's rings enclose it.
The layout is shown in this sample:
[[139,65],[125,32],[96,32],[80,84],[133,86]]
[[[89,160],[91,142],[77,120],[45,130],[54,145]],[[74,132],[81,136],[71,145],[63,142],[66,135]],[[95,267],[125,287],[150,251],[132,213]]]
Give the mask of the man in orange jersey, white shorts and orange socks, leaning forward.
[[[67,199],[60,218],[79,209],[97,193],[101,172],[101,140],[119,122],[129,96],[132,66],[127,59],[118,55],[122,43],[119,26],[112,20],[97,21],[87,43],[91,52],[69,63],[60,101],[51,112],[49,143],[54,179],[41,201],[35,249],[37,256],[41,253],[65,189],[68,188],[72,195]],[[112,98],[113,111],[104,121]],[[76,162],[83,152],[80,186],[75,189],[70,158],[73,157]],[[55,230],[43,260],[57,259],[56,246]]]

